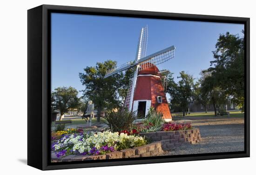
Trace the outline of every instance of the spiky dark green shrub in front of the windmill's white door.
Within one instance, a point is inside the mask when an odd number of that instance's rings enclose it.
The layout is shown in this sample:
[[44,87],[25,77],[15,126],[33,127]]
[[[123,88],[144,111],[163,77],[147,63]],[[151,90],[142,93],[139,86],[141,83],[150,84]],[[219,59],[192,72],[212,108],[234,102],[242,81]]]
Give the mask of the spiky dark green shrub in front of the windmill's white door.
[[102,122],[108,125],[112,132],[129,130],[136,119],[135,112],[130,112],[127,108],[119,109],[117,112],[109,111],[103,117]]

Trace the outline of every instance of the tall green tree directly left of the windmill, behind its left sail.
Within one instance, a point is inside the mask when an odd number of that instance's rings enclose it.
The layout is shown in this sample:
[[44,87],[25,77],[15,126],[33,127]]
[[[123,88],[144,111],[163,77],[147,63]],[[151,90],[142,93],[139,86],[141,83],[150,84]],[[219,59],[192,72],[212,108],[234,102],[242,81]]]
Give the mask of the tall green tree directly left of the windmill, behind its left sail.
[[115,61],[96,63],[96,66],[86,67],[84,73],[79,73],[80,81],[85,86],[83,95],[92,100],[98,111],[97,121],[100,122],[101,111],[105,108],[113,109],[120,107],[118,90],[121,87],[122,73],[104,78],[108,69],[116,67]]

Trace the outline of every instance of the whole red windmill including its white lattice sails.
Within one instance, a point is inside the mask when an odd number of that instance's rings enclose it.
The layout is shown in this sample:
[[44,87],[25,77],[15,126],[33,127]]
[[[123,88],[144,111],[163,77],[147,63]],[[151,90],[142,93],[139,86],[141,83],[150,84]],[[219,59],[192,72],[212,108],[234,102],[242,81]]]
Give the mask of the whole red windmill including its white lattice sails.
[[147,44],[148,26],[141,29],[135,61],[108,70],[105,78],[135,67],[135,72],[131,75],[129,81],[128,94],[124,105],[130,111],[136,111],[137,114],[142,116],[146,116],[149,108],[154,107],[157,111],[163,113],[163,119],[170,121],[172,116],[164,93],[165,85],[162,84],[161,72],[156,65],[173,58],[175,47],[171,46],[146,56]]

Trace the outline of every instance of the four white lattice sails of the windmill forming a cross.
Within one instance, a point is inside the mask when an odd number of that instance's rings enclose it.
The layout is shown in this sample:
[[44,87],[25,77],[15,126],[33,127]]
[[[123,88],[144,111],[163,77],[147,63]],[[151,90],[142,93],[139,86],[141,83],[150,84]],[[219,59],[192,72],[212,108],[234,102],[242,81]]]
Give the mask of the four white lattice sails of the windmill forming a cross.
[[114,69],[110,69],[106,71],[105,78],[111,75],[117,74],[121,71],[136,67],[134,74],[131,75],[130,77],[130,81],[128,85],[128,94],[125,100],[125,106],[128,107],[130,111],[132,111],[133,97],[134,97],[138,71],[143,69],[148,69],[155,65],[167,62],[168,60],[174,57],[174,52],[175,52],[174,46],[168,47],[166,49],[155,52],[154,54],[146,56],[147,44],[148,44],[148,26],[145,26],[141,29],[135,61],[127,62],[125,64],[122,64],[121,66],[118,66]]

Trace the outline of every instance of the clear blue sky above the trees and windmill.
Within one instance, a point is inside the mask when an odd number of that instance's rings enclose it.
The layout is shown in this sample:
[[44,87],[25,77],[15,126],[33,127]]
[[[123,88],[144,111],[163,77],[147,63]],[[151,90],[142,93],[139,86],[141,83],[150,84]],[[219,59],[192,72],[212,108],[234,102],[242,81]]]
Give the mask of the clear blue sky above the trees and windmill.
[[[179,72],[199,78],[210,66],[219,34],[229,31],[242,36],[243,25],[104,17],[77,14],[52,14],[52,90],[72,86],[83,90],[79,72],[86,66],[108,59],[118,65],[135,59],[141,27],[148,25],[146,55],[174,45],[174,59],[158,65],[168,69],[178,81]],[[79,93],[81,96],[82,93]]]

